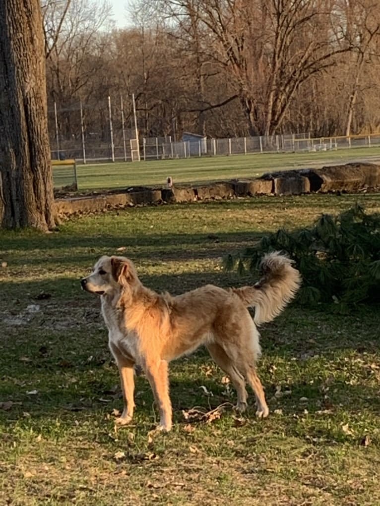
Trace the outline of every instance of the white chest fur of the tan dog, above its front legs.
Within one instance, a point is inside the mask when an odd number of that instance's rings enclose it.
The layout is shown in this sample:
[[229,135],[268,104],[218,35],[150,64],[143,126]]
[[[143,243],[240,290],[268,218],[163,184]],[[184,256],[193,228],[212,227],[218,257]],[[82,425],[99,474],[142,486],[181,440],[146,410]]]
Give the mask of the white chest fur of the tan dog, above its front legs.
[[101,301],[102,315],[108,328],[109,343],[122,353],[139,363],[138,339],[135,332],[127,331],[125,315],[110,304],[104,297]]

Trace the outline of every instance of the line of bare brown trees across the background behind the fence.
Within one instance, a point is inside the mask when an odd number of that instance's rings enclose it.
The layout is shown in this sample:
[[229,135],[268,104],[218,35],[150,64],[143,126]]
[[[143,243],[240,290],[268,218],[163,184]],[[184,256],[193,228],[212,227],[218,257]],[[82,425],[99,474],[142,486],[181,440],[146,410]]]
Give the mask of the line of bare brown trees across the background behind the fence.
[[[130,27],[91,0],[43,3],[48,100],[62,131],[107,130],[105,98],[136,98],[142,137],[376,132],[376,0],[135,0]],[[115,100],[114,100],[115,101]],[[129,108],[129,110],[128,110]]]

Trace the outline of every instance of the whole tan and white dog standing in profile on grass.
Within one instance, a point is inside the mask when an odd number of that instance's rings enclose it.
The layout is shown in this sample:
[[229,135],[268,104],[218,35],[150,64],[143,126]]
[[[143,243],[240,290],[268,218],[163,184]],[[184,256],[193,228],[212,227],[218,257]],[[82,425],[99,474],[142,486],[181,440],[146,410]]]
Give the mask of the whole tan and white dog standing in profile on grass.
[[[256,325],[271,321],[295,296],[300,274],[292,263],[279,252],[271,252],[263,257],[262,277],[253,286],[223,289],[209,284],[172,297],[144,286],[131,260],[101,257],[81,285],[100,296],[109,348],[119,368],[124,410],[116,423],[132,420],[133,371],[140,365],[160,411],[157,430],[170,431],[168,364],[201,345],[230,376],[237,391],[236,409],[247,408],[248,382],[256,397],[256,416],[268,416],[256,373],[261,353]],[[253,319],[249,307],[254,308]]]

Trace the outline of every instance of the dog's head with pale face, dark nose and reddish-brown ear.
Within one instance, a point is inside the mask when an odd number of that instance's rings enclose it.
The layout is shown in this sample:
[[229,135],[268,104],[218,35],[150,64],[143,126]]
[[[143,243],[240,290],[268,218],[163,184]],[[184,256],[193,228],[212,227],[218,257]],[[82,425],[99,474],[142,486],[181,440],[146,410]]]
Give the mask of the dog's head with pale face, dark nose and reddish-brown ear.
[[101,257],[93,272],[81,279],[82,288],[98,295],[115,294],[139,283],[133,262],[125,257]]

